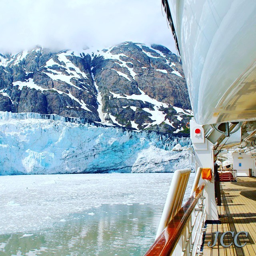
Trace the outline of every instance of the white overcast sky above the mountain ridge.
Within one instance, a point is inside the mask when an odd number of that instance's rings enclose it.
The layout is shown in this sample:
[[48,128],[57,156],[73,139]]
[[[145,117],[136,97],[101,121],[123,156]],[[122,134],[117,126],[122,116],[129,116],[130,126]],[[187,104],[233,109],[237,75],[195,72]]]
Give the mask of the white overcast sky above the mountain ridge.
[[156,43],[176,53],[161,0],[0,0],[0,51]]

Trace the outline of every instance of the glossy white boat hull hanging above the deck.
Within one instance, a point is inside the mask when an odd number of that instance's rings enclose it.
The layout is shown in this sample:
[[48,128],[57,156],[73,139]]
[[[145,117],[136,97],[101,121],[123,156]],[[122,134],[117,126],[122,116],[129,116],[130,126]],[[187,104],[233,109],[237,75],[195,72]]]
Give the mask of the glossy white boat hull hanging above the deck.
[[256,120],[256,1],[168,3],[196,122]]

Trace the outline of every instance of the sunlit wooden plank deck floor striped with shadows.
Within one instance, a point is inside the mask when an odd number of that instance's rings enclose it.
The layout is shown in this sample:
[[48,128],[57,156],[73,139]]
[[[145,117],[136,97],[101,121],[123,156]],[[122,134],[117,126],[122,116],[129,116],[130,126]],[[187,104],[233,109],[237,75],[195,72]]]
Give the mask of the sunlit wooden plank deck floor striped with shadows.
[[[237,182],[221,182],[222,206],[218,206],[220,224],[207,224],[204,240],[204,256],[247,256],[256,255],[256,178],[238,177]],[[219,231],[218,242],[210,248],[214,241],[214,232]],[[223,247],[220,243],[221,235],[226,231],[233,231],[234,235],[240,231],[247,231],[239,235],[241,244],[246,242],[242,248],[234,246],[232,234],[224,236],[224,244],[230,247]]]

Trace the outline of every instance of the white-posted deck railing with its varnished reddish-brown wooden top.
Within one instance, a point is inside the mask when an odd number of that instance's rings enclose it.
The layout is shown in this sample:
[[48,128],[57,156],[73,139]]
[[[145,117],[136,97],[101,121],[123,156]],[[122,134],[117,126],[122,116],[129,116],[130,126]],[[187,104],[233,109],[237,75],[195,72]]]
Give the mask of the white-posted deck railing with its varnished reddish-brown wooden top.
[[205,223],[204,186],[202,182],[174,218],[168,223],[145,256],[194,256],[202,254]]

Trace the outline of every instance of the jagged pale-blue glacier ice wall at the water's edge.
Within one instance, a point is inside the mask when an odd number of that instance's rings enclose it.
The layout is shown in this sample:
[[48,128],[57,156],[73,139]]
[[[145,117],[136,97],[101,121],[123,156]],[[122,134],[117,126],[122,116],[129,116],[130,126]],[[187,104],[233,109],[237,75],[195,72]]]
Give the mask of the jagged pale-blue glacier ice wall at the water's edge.
[[[64,122],[34,113],[0,112],[0,174],[173,172],[188,168],[190,154],[156,132]],[[54,119],[54,120],[52,120]]]

